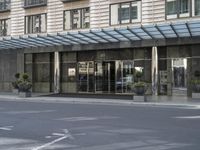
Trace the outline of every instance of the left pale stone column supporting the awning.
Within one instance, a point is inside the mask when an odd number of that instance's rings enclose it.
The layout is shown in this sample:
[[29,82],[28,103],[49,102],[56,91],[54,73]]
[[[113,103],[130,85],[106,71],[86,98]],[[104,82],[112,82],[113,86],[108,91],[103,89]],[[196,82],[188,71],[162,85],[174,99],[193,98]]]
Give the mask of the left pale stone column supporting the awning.
[[60,92],[60,55],[54,52],[54,93]]

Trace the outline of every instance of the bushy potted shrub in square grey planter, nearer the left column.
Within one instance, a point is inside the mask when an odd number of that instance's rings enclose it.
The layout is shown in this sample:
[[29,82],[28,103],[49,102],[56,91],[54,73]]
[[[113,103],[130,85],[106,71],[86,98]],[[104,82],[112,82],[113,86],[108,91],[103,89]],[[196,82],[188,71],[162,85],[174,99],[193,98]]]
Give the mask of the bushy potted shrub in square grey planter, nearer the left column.
[[19,96],[20,97],[30,97],[31,96],[32,84],[29,80],[29,76],[27,73],[21,74],[21,78],[18,82],[18,87],[19,87]]

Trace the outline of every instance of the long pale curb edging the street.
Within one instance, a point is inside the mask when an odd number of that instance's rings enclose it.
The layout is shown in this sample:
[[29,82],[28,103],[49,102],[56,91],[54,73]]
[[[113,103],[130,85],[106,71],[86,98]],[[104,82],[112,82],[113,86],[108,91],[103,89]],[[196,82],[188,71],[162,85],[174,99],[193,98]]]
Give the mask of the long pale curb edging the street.
[[0,96],[0,101],[19,102],[49,102],[49,103],[73,103],[73,104],[101,104],[101,105],[128,105],[128,106],[166,106],[166,107],[193,107],[200,109],[200,103],[166,103],[166,102],[138,102],[131,100],[114,99],[89,99],[89,98],[59,98],[59,97],[30,97],[19,98],[16,96]]

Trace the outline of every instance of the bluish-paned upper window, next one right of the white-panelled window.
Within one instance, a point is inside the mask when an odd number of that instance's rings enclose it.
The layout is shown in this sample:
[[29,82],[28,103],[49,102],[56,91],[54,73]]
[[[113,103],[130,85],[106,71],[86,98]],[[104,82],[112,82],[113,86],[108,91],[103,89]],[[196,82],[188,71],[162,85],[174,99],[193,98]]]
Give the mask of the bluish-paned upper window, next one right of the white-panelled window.
[[166,19],[189,17],[191,0],[166,0]]

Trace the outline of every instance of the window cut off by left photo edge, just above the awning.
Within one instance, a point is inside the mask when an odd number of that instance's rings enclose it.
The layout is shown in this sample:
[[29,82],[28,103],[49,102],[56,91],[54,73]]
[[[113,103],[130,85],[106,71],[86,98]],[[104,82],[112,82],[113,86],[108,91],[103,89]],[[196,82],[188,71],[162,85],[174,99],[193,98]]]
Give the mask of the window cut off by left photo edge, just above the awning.
[[0,36],[10,35],[10,19],[0,20]]

